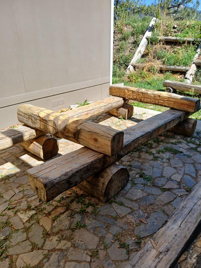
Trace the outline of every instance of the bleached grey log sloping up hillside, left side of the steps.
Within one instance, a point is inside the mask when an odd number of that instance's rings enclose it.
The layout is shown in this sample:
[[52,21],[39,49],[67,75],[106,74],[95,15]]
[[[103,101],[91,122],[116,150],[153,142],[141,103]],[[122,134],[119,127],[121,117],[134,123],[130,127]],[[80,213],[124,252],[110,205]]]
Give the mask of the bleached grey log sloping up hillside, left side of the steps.
[[146,49],[147,45],[148,45],[148,41],[147,41],[147,37],[151,36],[152,33],[152,27],[154,26],[156,22],[156,18],[152,18],[144,36],[142,37],[142,40],[134,54],[134,56],[132,57],[130,64],[128,65],[127,69],[126,69],[126,73],[131,73],[134,71],[132,63],[136,62],[138,59],[140,59],[144,53],[144,50]]

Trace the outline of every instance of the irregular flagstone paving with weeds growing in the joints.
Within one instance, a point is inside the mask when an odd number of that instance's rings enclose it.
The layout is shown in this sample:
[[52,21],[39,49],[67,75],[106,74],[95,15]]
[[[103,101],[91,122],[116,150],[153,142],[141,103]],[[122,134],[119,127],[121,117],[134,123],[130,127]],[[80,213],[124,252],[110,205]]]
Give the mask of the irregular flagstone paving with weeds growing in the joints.
[[[116,129],[154,111],[135,108],[132,120],[91,119]],[[130,182],[103,204],[78,188],[43,203],[26,170],[42,161],[20,146],[0,154],[0,268],[122,268],[162,227],[201,175],[201,134],[164,133],[123,157]],[[59,155],[80,147],[59,140]]]

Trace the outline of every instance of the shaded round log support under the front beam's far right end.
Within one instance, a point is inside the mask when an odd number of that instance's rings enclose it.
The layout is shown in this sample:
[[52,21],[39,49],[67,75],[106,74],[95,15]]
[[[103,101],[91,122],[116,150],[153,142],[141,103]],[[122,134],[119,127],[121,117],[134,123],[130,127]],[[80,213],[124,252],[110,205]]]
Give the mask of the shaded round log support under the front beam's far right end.
[[175,134],[190,137],[195,132],[196,125],[196,119],[187,118],[180,124],[174,126],[173,128],[170,128],[169,131],[174,132]]

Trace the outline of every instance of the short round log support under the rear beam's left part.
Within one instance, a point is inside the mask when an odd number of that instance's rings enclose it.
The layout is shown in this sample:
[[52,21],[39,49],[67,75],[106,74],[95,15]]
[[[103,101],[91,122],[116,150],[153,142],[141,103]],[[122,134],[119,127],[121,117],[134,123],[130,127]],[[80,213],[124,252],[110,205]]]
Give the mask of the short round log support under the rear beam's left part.
[[30,153],[44,160],[52,158],[59,151],[57,140],[48,135],[22,142],[20,145]]

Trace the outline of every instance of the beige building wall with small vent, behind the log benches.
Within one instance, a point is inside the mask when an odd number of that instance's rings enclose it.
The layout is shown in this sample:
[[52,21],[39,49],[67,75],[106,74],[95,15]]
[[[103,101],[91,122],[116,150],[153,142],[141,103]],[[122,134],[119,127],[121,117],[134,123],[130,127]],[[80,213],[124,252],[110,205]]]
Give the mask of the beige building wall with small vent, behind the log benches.
[[108,96],[110,0],[1,0],[0,128],[22,103],[59,110]]

